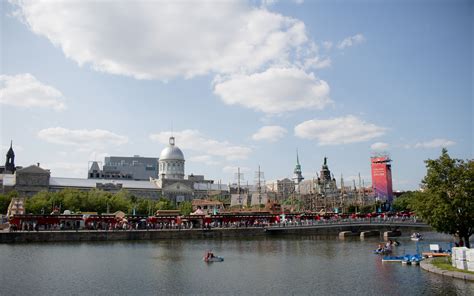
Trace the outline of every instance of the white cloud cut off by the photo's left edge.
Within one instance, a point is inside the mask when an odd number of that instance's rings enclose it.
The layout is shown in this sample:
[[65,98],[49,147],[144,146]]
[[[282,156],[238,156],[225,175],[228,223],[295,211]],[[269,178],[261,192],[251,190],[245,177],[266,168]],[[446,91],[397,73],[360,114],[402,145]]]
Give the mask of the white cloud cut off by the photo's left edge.
[[0,104],[23,108],[66,108],[63,94],[52,86],[38,81],[29,73],[14,76],[0,75]]

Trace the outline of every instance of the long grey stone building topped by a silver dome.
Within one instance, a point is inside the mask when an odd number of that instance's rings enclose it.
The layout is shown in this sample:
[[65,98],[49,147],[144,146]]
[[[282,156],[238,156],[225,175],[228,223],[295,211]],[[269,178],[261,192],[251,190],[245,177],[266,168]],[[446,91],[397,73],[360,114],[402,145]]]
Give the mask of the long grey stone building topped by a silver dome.
[[[14,154],[10,150],[7,153],[9,168],[11,168],[10,164],[13,163],[14,158]],[[157,160],[156,158],[150,159],[151,164],[153,164],[153,159]],[[110,161],[112,160],[110,159]],[[21,169],[15,167],[13,174],[0,174],[0,180],[3,182],[1,189],[3,192],[16,190],[22,197],[30,197],[40,191],[54,192],[67,188],[84,191],[99,189],[112,193],[127,190],[139,198],[159,199],[165,197],[173,203],[191,201],[196,197],[204,198],[209,196],[210,192],[214,195],[228,195],[227,186],[214,184],[214,181],[206,180],[202,175],[191,174],[187,179],[184,178],[184,162],[183,152],[175,145],[174,137],[171,137],[168,147],[162,150],[159,162],[156,163],[156,167],[159,164],[159,178],[149,177],[147,180],[134,180],[133,177],[122,178],[117,175],[115,178],[111,176],[110,179],[101,178],[100,175],[95,175],[104,172],[97,163],[93,163],[88,171],[88,174],[94,174],[92,178],[51,177],[50,171],[41,168],[38,164]],[[131,164],[133,165],[133,162]]]

